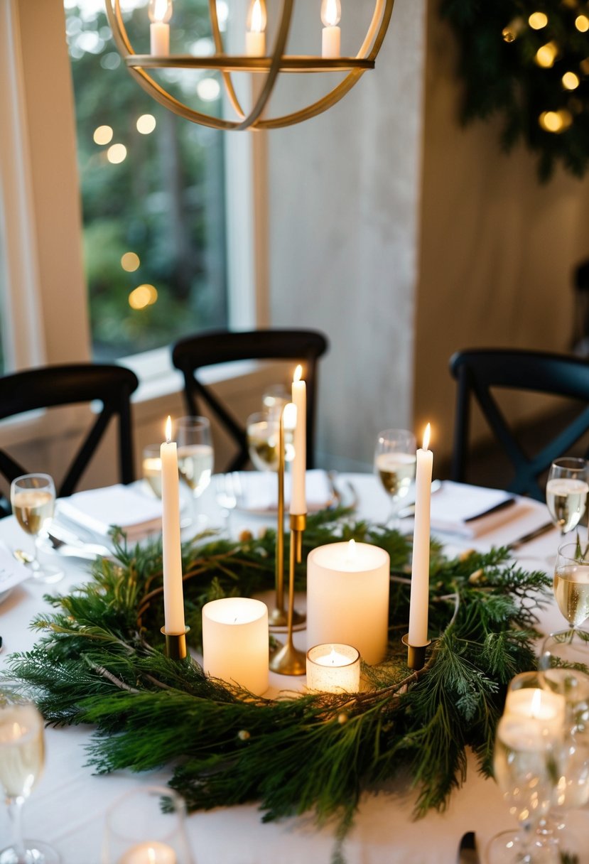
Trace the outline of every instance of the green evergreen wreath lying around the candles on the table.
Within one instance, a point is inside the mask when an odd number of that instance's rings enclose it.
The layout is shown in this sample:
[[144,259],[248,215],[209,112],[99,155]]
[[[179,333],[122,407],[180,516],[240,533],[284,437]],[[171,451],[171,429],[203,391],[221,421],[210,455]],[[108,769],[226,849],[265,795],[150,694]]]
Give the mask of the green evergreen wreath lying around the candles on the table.
[[[491,772],[504,689],[535,664],[534,609],[548,577],[519,569],[507,550],[447,560],[433,544],[434,638],[425,666],[411,671],[401,641],[409,538],[351,522],[345,510],[324,511],[309,518],[303,557],[352,537],[386,549],[392,570],[390,652],[383,664],[364,666],[369,689],[358,694],[265,699],[167,658],[161,544],[130,548],[120,534],[116,561],[97,562],[85,584],[48,598],[54,611],[34,620],[42,634],[35,648],[9,658],[12,675],[48,723],[95,727],[88,753],[98,773],[170,766],[169,785],[190,810],[257,801],[265,821],[314,810],[319,823],[338,817],[341,839],[361,793],[401,771],[418,790],[416,816],[443,808],[465,778],[467,747]],[[194,649],[204,603],[273,587],[275,539],[273,531],[238,542],[201,535],[184,546]],[[296,578],[304,589],[304,564]]]

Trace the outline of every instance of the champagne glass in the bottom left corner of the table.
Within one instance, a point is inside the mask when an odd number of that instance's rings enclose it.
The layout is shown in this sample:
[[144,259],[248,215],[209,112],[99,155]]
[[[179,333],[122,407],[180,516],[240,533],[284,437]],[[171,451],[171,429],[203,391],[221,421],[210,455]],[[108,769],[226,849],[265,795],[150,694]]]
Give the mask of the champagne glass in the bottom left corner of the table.
[[59,864],[54,848],[22,837],[22,806],[41,776],[45,759],[43,718],[32,702],[0,691],[0,788],[13,825],[13,842],[0,850],[2,864]]

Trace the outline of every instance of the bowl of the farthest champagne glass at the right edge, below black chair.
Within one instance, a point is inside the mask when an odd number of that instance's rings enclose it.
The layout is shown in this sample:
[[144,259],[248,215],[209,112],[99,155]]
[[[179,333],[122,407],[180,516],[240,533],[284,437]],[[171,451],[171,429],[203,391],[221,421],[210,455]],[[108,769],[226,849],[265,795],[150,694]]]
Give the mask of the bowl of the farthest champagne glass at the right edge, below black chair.
[[546,484],[546,503],[561,535],[576,528],[586,511],[587,463],[584,459],[564,457],[555,459],[550,466]]

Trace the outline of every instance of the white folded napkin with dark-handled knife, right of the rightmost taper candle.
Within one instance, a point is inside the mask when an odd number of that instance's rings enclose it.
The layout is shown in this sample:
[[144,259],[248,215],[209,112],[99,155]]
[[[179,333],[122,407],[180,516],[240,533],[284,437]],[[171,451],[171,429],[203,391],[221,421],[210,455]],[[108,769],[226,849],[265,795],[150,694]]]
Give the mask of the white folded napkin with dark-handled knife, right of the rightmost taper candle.
[[478,537],[516,515],[516,499],[501,489],[485,489],[444,480],[432,495],[432,530]]

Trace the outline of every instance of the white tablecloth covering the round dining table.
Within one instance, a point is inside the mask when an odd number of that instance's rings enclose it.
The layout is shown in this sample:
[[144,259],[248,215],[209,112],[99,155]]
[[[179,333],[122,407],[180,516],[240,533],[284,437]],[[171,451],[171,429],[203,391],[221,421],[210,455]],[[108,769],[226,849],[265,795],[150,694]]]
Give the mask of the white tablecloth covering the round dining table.
[[[352,483],[359,496],[358,512],[363,518],[381,521],[389,512],[389,500],[371,475],[341,475],[339,484]],[[213,487],[200,500],[203,510],[219,522]],[[516,522],[508,522],[490,534],[473,541],[447,539],[453,549],[471,547],[484,550],[491,544],[510,543],[547,520],[543,505],[530,502],[529,513]],[[234,511],[231,530],[241,527],[259,530],[263,518]],[[406,523],[408,530],[411,524]],[[11,548],[23,547],[28,539],[13,518],[0,521],[0,540]],[[554,555],[559,543],[556,530],[544,534],[516,552],[524,566],[530,569],[548,567],[548,556]],[[42,594],[57,590],[67,593],[82,581],[85,564],[60,557],[66,578],[54,587],[43,587],[26,581],[13,590],[0,605],[0,634],[4,652],[26,651],[35,643],[29,622],[44,607]],[[542,613],[545,632],[564,625],[558,611],[552,607]],[[304,647],[304,632],[295,634]],[[288,688],[292,679],[273,677],[274,686]],[[98,864],[102,842],[104,812],[123,791],[136,784],[165,785],[168,772],[136,775],[117,772],[109,776],[94,776],[85,766],[85,743],[90,729],[66,727],[47,731],[47,766],[39,784],[24,808],[25,835],[54,844],[64,864]],[[309,766],[312,771],[312,766]],[[469,762],[466,785],[455,791],[447,810],[432,812],[415,822],[412,815],[415,796],[397,786],[378,795],[365,795],[356,823],[345,843],[348,864],[439,864],[456,861],[460,836],[476,830],[480,846],[497,830],[511,825],[507,808],[492,780],[478,775],[473,759]],[[580,815],[586,818],[586,814]],[[574,824],[578,816],[569,820]],[[333,850],[333,826],[316,829],[312,816],[293,818],[281,823],[262,823],[255,805],[231,809],[218,808],[188,818],[188,833],[192,842],[195,864],[328,864]],[[6,811],[0,808],[0,848],[8,842],[9,823]]]

